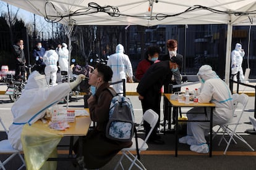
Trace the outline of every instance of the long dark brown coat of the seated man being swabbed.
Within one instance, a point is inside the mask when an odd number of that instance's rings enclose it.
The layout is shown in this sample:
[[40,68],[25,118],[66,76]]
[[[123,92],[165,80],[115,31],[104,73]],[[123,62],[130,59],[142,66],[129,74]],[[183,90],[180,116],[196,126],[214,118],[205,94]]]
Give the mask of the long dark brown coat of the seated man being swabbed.
[[[83,137],[83,156],[85,168],[97,169],[108,163],[122,148],[130,147],[132,142],[119,142],[106,137],[106,124],[109,119],[109,106],[113,98],[106,90],[108,83],[96,91],[95,102],[89,103],[90,116],[96,127]],[[78,142],[74,146],[77,149]],[[75,151],[77,153],[77,151]]]

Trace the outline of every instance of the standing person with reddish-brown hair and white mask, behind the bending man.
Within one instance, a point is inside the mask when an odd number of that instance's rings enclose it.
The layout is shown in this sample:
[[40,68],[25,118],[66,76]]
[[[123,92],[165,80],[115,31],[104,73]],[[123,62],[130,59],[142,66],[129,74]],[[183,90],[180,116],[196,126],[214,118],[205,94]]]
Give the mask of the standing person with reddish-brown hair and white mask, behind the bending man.
[[[163,57],[161,57],[161,61],[164,60],[169,60],[172,57],[177,57],[179,58],[179,60],[181,60],[181,65],[179,65],[179,69],[177,69],[176,71],[173,72],[173,75],[169,78],[169,81],[164,84],[164,93],[169,93],[169,84],[181,84],[181,69],[182,69],[182,65],[183,65],[183,56],[181,54],[177,54],[177,41],[176,39],[169,39],[166,42],[166,47],[168,48],[168,54],[163,55]],[[173,92],[178,92],[181,91],[181,87],[177,87],[177,88],[173,88]],[[175,116],[176,115],[176,111],[178,108],[174,107],[173,108],[173,124],[175,124]],[[168,113],[168,100],[164,98],[164,116],[169,115]]]

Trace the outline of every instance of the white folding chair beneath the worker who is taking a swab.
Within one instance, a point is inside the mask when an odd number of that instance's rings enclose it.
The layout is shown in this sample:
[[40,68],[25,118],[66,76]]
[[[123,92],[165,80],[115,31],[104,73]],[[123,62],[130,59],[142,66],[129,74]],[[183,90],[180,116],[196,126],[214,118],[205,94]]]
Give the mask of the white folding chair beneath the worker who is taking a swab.
[[[4,123],[2,123],[1,117],[0,117],[0,123],[1,123],[2,127],[4,128],[4,131],[6,131],[6,134],[8,136],[8,131],[7,131],[6,127],[4,126]],[[16,156],[16,155],[19,155],[20,160],[22,161],[22,166],[20,166],[19,169],[22,169],[23,167],[25,167],[25,161],[24,161],[22,155],[20,154],[20,151],[12,148],[8,139],[4,139],[4,140],[0,141],[0,153],[10,155],[3,162],[0,160],[0,169],[2,168],[2,169],[5,170],[6,168],[4,168],[4,165],[7,162],[9,162],[12,158],[14,158],[14,156]]]

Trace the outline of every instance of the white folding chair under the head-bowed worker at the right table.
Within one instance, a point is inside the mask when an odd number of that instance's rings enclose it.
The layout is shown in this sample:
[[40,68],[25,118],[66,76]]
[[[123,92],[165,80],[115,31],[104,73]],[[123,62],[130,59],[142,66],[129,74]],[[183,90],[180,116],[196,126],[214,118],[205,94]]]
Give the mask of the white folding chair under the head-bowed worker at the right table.
[[[222,140],[224,140],[227,143],[227,146],[226,146],[226,148],[224,150],[223,155],[226,155],[226,152],[227,152],[228,147],[229,147],[229,145],[231,143],[231,140],[233,140],[234,143],[237,144],[236,140],[234,140],[234,137],[236,137],[237,139],[239,139],[242,142],[244,142],[244,144],[246,144],[252,151],[254,151],[254,148],[252,148],[246,142],[246,140],[236,132],[237,126],[239,124],[242,124],[240,121],[241,121],[241,118],[242,118],[242,115],[244,113],[244,110],[245,110],[245,107],[247,105],[248,100],[249,100],[249,96],[248,95],[246,95],[246,94],[239,94],[238,99],[237,99],[237,105],[239,103],[242,105],[241,114],[237,117],[237,120],[233,119],[233,121],[231,121],[230,123],[221,125],[221,128],[223,129],[223,136],[221,137],[221,140],[220,140],[218,145],[220,146]],[[229,140],[227,140],[225,138],[225,136],[224,136],[225,134],[228,134]]]

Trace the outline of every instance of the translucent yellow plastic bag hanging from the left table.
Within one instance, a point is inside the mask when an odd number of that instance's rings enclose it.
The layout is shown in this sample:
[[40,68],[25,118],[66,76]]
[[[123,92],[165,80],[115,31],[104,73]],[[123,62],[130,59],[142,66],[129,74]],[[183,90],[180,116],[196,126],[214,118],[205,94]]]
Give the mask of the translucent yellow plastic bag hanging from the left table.
[[26,167],[30,169],[56,169],[55,161],[46,160],[57,157],[57,145],[63,137],[61,132],[54,131],[45,126],[25,124],[22,129],[21,141],[25,155]]

